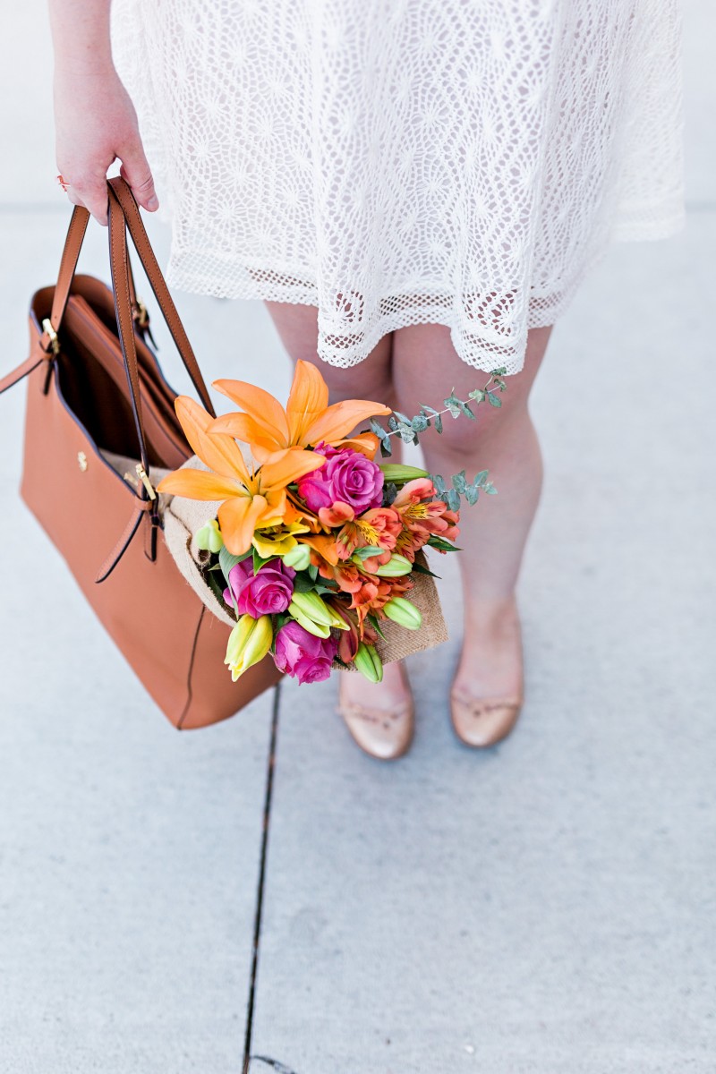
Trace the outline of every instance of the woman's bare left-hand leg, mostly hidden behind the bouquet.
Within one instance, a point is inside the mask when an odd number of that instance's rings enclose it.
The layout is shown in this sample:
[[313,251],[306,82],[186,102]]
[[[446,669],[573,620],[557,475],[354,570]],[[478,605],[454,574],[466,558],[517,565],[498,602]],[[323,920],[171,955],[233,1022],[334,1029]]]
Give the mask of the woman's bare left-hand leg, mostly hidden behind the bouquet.
[[[302,359],[318,365],[328,386],[331,402],[345,398],[375,400],[395,406],[393,389],[392,335],[379,340],[368,357],[350,368],[341,369],[321,361],[317,352],[318,310],[315,306],[288,302],[267,302],[281,342],[294,362]],[[369,683],[361,674],[345,674],[341,694],[347,701],[377,709],[392,709],[406,697],[397,665],[386,665],[381,683]]]

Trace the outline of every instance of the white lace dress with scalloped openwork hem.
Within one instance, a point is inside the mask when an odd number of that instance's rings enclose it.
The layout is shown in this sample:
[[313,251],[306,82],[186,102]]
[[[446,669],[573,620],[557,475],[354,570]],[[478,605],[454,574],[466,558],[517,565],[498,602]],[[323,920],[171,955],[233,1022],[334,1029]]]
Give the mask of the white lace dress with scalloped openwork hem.
[[614,240],[683,218],[677,0],[114,0],[169,282],[435,322],[522,367]]

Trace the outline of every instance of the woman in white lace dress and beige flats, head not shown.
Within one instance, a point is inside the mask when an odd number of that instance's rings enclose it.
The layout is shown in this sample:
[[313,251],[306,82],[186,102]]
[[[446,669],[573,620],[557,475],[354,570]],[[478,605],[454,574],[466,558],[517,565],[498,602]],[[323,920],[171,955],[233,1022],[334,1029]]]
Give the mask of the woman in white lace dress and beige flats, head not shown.
[[[149,159],[170,284],[266,301],[334,400],[411,415],[507,366],[501,410],[424,439],[433,473],[486,467],[500,492],[462,516],[451,690],[458,737],[499,741],[522,706],[528,400],[552,325],[610,241],[682,223],[676,0],[115,0],[114,59],[109,0],[50,15],[70,200],[105,222],[119,159],[156,211]],[[408,748],[400,665],[341,676],[340,711],[372,756]]]

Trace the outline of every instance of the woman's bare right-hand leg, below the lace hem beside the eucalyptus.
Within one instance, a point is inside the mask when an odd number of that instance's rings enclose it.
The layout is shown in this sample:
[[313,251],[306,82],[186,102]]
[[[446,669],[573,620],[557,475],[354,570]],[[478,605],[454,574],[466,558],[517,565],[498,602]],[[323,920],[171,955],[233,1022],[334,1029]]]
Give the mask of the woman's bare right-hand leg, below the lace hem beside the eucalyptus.
[[[465,600],[465,638],[456,685],[477,698],[518,696],[522,691],[520,624],[514,590],[542,484],[540,447],[528,397],[551,328],[529,332],[524,368],[507,378],[500,409],[481,404],[477,422],[448,417],[441,436],[421,440],[427,468],[468,478],[488,469],[498,490],[461,512],[458,555]],[[443,325],[411,325],[393,333],[393,382],[398,409],[439,409],[454,387],[466,400],[486,374],[457,357]]]

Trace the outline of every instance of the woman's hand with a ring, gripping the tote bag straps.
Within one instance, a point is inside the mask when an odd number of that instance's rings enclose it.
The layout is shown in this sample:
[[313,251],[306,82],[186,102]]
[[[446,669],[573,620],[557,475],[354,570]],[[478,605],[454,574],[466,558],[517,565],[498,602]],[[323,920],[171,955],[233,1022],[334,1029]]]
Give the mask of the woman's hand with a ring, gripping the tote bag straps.
[[106,224],[106,175],[119,159],[138,204],[150,213],[159,208],[134,105],[112,63],[56,69],[55,129],[57,166],[73,204]]

